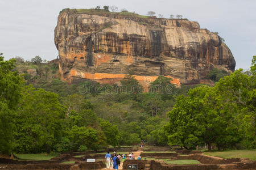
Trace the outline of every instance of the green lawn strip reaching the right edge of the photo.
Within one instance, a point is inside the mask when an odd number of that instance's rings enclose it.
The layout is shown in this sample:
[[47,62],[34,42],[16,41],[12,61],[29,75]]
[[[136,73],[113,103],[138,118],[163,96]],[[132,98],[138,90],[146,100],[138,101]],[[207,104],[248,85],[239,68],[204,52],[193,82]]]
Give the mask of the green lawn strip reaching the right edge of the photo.
[[204,152],[205,155],[217,156],[220,158],[249,158],[256,160],[256,149],[254,150],[229,150],[229,151],[216,151]]

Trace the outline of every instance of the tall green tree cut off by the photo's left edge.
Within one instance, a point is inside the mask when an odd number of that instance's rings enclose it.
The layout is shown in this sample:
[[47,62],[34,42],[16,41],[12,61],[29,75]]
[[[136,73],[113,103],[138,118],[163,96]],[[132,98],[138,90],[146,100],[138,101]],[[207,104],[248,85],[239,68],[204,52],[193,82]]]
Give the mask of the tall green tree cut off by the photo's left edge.
[[10,154],[13,149],[14,117],[21,97],[23,79],[15,67],[15,59],[4,61],[0,53],[0,153]]

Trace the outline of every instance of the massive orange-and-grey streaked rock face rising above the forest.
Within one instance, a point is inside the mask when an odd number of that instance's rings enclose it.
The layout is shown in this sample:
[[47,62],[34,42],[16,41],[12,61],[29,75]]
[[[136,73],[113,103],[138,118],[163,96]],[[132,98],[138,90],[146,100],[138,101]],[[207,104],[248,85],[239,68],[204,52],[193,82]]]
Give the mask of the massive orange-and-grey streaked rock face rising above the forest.
[[[147,84],[159,75],[173,83],[207,82],[209,70],[234,71],[236,62],[221,38],[185,19],[64,11],[55,28],[63,79],[115,83],[133,74]],[[143,84],[144,83],[144,84]]]

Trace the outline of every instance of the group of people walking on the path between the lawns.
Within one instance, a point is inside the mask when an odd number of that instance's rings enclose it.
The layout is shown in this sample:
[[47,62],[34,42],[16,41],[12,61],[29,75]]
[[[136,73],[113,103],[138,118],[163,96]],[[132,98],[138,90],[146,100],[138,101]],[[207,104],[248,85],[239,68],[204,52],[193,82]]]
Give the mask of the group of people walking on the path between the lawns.
[[[135,155],[133,153],[129,152],[129,155],[126,157],[125,154],[123,154],[122,156],[120,154],[117,154],[116,152],[114,152],[112,155],[106,154],[105,155],[105,159],[106,159],[106,168],[109,169],[110,166],[113,165],[114,169],[118,169],[118,167],[121,164],[121,159],[122,162],[125,162],[125,160],[135,160]],[[141,155],[138,156],[137,160],[141,160]]]

